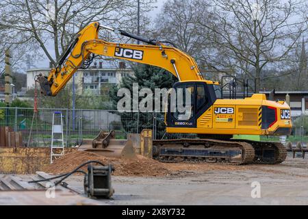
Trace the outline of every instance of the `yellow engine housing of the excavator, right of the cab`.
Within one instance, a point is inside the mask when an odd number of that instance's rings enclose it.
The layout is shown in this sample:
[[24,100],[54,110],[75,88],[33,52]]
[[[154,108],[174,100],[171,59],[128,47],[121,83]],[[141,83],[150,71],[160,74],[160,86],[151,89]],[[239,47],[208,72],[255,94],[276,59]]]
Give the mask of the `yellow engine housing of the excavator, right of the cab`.
[[[277,122],[268,129],[261,129],[262,105],[277,108]],[[234,108],[234,114],[215,114],[215,107]],[[225,135],[274,134],[278,127],[292,128],[290,119],[281,119],[281,110],[290,110],[287,103],[267,101],[265,94],[253,94],[246,99],[218,99],[197,119],[196,128],[167,127],[168,133],[203,133]]]

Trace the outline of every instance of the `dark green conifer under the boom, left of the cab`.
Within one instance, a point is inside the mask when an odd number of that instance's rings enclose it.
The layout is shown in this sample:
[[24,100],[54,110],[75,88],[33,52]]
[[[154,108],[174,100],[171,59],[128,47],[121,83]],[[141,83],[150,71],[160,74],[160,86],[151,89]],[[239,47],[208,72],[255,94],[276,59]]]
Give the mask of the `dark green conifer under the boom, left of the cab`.
[[[110,89],[110,96],[113,102],[114,110],[117,110],[117,104],[123,96],[117,96],[118,90],[120,88],[127,88],[131,92],[131,110],[133,109],[133,83],[138,83],[139,91],[142,88],[150,88],[153,92],[155,88],[172,88],[173,83],[177,81],[177,78],[174,77],[168,71],[158,68],[155,66],[150,66],[146,64],[136,64],[133,66],[134,75],[123,77],[120,86],[114,86]],[[144,97],[139,97],[139,103]],[[162,105],[162,100],[161,100]],[[155,106],[153,98],[153,107]],[[162,106],[161,106],[162,107]],[[155,110],[155,109],[153,109]],[[121,117],[122,127],[125,131],[129,133],[140,133],[142,129],[153,129],[153,112],[123,112],[119,113]],[[164,113],[156,113],[156,133],[157,138],[161,137],[164,134]],[[138,130],[137,130],[138,127]],[[114,127],[119,128],[119,127]]]

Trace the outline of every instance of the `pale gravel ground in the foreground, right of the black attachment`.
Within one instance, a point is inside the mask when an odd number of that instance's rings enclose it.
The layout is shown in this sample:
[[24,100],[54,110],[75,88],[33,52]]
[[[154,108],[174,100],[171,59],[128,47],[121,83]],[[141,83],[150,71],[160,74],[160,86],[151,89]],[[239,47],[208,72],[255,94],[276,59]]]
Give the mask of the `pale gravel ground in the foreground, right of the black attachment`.
[[[115,194],[101,205],[308,205],[308,158],[278,165],[167,164],[166,176],[113,176]],[[83,189],[83,177],[66,182]],[[260,198],[252,198],[253,185]],[[0,192],[1,196],[1,192]],[[33,200],[31,200],[33,203]]]

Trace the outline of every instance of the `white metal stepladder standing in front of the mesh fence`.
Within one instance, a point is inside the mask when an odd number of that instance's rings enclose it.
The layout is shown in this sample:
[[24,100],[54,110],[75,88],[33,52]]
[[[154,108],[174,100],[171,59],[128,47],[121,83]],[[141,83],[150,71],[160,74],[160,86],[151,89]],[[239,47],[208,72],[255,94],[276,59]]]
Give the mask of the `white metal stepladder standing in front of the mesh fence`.
[[[51,153],[50,153],[51,164],[55,159],[64,155],[64,136],[63,136],[62,118],[63,118],[62,112],[53,112],[53,126],[51,133]],[[60,121],[61,124],[55,124],[55,123],[60,123]]]

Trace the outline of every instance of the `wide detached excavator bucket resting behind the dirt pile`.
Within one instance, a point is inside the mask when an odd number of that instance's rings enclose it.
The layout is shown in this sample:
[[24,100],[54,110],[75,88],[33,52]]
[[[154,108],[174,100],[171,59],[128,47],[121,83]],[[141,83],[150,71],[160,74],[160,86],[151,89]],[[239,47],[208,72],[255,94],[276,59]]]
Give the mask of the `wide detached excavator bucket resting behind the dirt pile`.
[[79,146],[79,151],[88,151],[105,157],[122,159],[136,158],[131,140],[116,140],[116,132],[105,133],[101,131],[94,140],[84,140]]

